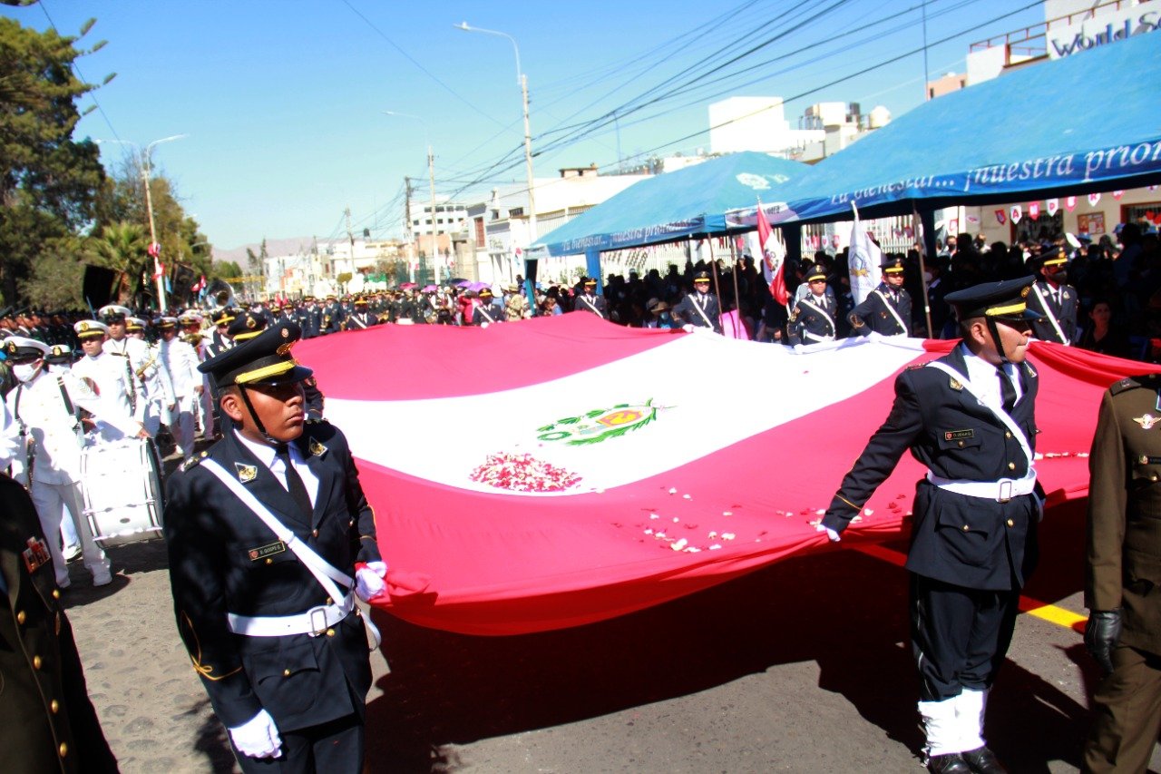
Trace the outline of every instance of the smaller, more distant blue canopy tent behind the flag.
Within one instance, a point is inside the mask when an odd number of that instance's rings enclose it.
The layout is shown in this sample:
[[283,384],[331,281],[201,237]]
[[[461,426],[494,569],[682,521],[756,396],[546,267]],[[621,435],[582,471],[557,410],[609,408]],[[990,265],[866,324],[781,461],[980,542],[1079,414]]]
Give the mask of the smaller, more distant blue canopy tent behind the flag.
[[546,256],[585,253],[590,277],[600,275],[600,252],[752,230],[730,213],[758,198],[785,201],[780,189],[810,172],[799,162],[745,151],[647,178],[538,239],[526,277]]

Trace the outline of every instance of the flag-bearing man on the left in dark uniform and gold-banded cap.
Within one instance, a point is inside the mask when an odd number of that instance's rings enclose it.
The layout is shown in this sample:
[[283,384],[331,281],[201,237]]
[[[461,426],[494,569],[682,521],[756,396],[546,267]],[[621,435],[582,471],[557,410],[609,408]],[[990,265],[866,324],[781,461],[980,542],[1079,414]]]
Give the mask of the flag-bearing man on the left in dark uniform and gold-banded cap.
[[170,575],[241,769],[355,773],[370,664],[354,594],[384,593],[387,566],[345,436],[304,422],[300,336],[277,324],[200,366],[235,429],[168,481]]

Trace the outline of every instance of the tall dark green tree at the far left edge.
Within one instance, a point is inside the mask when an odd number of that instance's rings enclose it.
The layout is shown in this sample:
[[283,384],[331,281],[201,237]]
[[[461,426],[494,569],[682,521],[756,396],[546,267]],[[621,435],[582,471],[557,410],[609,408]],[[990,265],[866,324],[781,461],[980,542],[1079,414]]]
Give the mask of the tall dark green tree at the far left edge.
[[[91,27],[63,37],[0,19],[0,289],[8,303],[23,302],[55,260],[75,263],[63,251],[75,248],[68,237],[94,215],[104,171],[96,145],[72,138],[75,101],[94,88],[72,64],[103,45],[75,48]],[[73,270],[62,265],[63,273]]]

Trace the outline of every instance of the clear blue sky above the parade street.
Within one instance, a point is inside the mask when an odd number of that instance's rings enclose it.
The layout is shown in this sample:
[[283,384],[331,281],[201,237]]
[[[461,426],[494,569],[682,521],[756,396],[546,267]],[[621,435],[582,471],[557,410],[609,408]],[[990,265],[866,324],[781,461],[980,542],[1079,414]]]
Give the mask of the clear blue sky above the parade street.
[[[0,6],[22,24],[75,34],[108,45],[79,60],[100,110],[79,136],[158,145],[154,163],[175,181],[187,213],[218,251],[264,237],[345,234],[351,208],[356,234],[403,231],[403,177],[419,179],[426,200],[426,145],[435,152],[441,196],[473,188],[482,172],[522,142],[512,44],[464,33],[502,30],[517,40],[532,96],[536,174],[561,166],[615,166],[612,126],[576,142],[561,127],[585,123],[662,84],[688,76],[704,58],[743,55],[702,78],[700,88],[641,108],[618,121],[622,156],[691,153],[708,148],[706,106],[734,95],[793,95],[824,84],[786,108],[794,120],[814,102],[885,105],[894,115],[923,95],[923,58],[909,56],[846,78],[922,45],[923,0],[586,0],[576,3],[385,0],[42,0]],[[928,0],[928,40],[1010,14],[1027,0]],[[734,13],[730,13],[734,12]],[[812,19],[812,16],[816,16]],[[968,44],[1043,21],[1037,6],[932,45],[932,77],[962,71]],[[854,46],[854,44],[858,44]],[[854,48],[852,48],[854,46]],[[776,57],[778,62],[762,64]],[[757,65],[745,74],[706,83]],[[82,107],[92,103],[86,98]],[[423,117],[416,121],[384,110]],[[678,141],[678,142],[675,142]],[[124,152],[102,148],[107,163]],[[512,169],[474,188],[524,179],[522,151]]]

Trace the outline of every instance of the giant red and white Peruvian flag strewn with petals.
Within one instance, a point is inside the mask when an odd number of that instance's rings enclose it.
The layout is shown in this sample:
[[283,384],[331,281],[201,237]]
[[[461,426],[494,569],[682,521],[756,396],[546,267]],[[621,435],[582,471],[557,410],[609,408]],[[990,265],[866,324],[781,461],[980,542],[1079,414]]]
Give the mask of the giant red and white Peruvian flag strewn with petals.
[[[923,474],[909,457],[838,547],[812,522],[886,418],[895,375],[952,344],[870,337],[796,353],[572,314],[382,325],[295,353],[351,440],[384,558],[431,578],[391,612],[510,635],[897,536]],[[1148,366],[1044,343],[1031,360],[1051,518],[1087,493],[1102,390]]]

